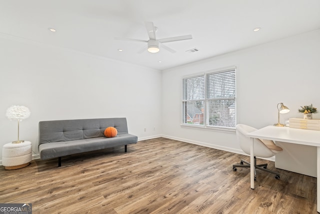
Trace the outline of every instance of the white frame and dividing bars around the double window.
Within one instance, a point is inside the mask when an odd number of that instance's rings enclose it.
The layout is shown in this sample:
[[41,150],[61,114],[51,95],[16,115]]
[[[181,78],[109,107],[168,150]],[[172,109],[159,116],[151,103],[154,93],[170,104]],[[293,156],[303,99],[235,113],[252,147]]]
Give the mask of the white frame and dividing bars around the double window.
[[[214,74],[214,73],[223,73],[223,72],[229,72],[234,70],[234,126],[219,126],[219,125],[209,125],[208,121],[208,100],[212,100],[211,98],[207,97],[207,75]],[[204,77],[204,112],[203,112],[203,119],[204,119],[204,124],[193,124],[193,123],[185,123],[185,115],[184,115],[184,103],[186,101],[189,101],[183,97],[184,94],[184,80],[192,77],[197,77],[197,76],[203,76]],[[237,121],[237,107],[236,107],[236,66],[230,66],[230,67],[225,67],[225,68],[219,68],[219,69],[211,69],[207,70],[205,72],[201,73],[196,73],[192,75],[187,75],[182,77],[181,81],[181,127],[186,127],[186,128],[194,128],[194,129],[205,129],[205,130],[212,130],[212,131],[221,131],[221,132],[234,132],[235,131],[235,125]],[[222,97],[220,99],[223,99]],[[229,99],[229,98],[228,98]],[[202,99],[199,99],[202,100]]]

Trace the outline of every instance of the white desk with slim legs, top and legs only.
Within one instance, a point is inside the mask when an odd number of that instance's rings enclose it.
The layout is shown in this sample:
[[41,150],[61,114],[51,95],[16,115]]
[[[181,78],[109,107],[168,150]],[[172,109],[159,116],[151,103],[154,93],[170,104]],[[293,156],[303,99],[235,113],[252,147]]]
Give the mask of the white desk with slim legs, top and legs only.
[[[253,138],[316,146],[316,209],[317,212],[320,212],[320,131],[269,125],[246,135],[252,139],[250,146],[250,162],[254,162]],[[250,164],[250,187],[251,189],[254,189],[253,164]]]

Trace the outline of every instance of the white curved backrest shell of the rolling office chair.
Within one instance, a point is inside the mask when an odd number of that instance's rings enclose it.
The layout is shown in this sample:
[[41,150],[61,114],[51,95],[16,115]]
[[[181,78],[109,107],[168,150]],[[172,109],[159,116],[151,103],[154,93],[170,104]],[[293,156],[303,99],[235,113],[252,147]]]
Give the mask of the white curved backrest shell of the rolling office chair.
[[[250,154],[250,145],[251,145],[251,138],[246,136],[247,133],[256,130],[251,126],[245,124],[237,124],[236,128],[236,140],[240,144],[241,149]],[[271,157],[275,155],[261,140],[254,138],[254,156],[257,157]]]

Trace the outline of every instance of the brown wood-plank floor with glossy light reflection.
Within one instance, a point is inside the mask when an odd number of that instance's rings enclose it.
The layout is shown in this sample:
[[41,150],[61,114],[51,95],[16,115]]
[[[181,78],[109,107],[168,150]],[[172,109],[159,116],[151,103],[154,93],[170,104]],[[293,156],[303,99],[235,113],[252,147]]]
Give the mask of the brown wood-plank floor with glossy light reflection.
[[[139,141],[5,170],[0,203],[32,203],[32,213],[317,213],[316,178],[268,168],[250,189],[248,156],[167,138]],[[257,160],[260,162],[262,160]]]

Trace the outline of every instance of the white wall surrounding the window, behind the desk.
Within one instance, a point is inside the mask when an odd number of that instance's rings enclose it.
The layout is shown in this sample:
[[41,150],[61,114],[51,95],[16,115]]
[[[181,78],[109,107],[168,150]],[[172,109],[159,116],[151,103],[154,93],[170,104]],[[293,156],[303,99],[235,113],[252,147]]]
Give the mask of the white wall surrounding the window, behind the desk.
[[[214,48],[214,47],[212,47]],[[280,122],[302,118],[297,109],[312,103],[320,110],[320,30],[223,54],[162,72],[162,133],[209,147],[241,152],[235,133],[190,129],[181,123],[181,79],[235,65],[237,123],[256,128],[277,122],[278,102],[290,108]],[[196,54],[196,53],[193,53]],[[320,118],[320,113],[313,114]]]

